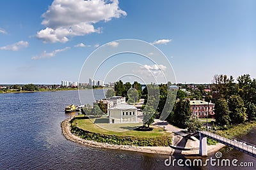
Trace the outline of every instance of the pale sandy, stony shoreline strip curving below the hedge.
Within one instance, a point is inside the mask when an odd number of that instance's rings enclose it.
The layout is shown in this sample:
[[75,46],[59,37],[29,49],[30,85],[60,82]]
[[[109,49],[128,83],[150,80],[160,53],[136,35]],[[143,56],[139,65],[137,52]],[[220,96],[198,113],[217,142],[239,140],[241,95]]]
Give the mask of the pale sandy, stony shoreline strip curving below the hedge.
[[[111,145],[108,143],[99,143],[95,141],[88,141],[86,139],[81,139],[75,134],[72,134],[70,131],[70,123],[69,121],[72,118],[67,118],[66,120],[63,120],[61,122],[61,133],[63,136],[68,139],[69,141],[79,143],[84,146],[92,146],[96,148],[106,148],[111,150],[127,150],[132,152],[143,152],[143,153],[154,153],[154,154],[161,154],[161,155],[184,155],[184,156],[196,156],[200,157],[198,155],[199,149],[196,148],[195,150],[182,150],[180,152],[178,150],[178,154],[176,153],[176,150],[170,148],[169,146],[130,146],[130,145]],[[223,144],[217,143],[216,145],[207,145],[207,152],[208,155],[211,155],[212,153],[218,152],[220,148],[222,148]]]

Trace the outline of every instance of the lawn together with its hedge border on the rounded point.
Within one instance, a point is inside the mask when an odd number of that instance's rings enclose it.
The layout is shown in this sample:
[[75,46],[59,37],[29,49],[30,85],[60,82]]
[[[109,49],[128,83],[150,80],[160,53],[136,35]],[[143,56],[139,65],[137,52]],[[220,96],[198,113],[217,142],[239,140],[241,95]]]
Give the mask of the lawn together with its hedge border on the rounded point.
[[[115,130],[122,132],[109,131],[103,129],[104,125],[111,124],[93,124],[95,119],[88,117],[75,117],[70,120],[71,132],[82,139],[97,141],[100,143],[109,143],[114,145],[131,145],[131,146],[169,146],[172,144],[170,133],[164,131],[161,127],[154,127],[153,131],[142,132],[134,131],[141,124],[112,124]],[[99,126],[100,125],[100,126]],[[124,131],[124,129],[126,131]],[[129,130],[129,131],[127,131]]]

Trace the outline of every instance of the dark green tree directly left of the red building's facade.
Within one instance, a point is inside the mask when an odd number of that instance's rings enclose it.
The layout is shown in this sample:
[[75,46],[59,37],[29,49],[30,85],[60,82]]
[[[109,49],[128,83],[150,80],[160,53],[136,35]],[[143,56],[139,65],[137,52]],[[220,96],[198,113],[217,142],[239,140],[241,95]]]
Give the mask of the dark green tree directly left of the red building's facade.
[[191,117],[190,103],[188,100],[180,100],[175,105],[173,124],[180,128],[186,128],[186,122]]

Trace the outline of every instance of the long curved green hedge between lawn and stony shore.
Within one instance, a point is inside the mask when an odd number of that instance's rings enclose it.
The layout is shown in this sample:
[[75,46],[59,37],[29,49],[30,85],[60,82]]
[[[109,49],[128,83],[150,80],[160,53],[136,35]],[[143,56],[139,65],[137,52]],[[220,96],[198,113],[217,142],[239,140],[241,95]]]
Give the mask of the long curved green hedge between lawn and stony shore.
[[76,127],[76,125],[72,125],[71,132],[82,139],[114,145],[169,146],[172,144],[172,138],[170,136],[163,136],[161,138],[137,138],[132,136],[116,136],[84,131],[83,129]]

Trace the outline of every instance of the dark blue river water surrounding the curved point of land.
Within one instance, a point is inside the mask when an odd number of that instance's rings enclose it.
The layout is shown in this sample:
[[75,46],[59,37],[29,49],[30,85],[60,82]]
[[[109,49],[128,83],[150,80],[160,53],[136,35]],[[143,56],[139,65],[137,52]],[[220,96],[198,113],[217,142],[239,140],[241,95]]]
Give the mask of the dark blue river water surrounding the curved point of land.
[[[90,90],[81,94],[90,96]],[[103,98],[102,90],[95,90],[94,96]],[[87,103],[93,101],[87,97]],[[60,124],[72,116],[64,113],[65,106],[72,103],[80,104],[76,90],[0,94],[0,169],[220,169],[209,165],[167,167],[167,155],[92,148],[68,141]],[[256,129],[243,139],[255,143],[255,134]],[[211,157],[215,156],[207,158]],[[179,158],[184,159],[172,157]],[[254,162],[254,167],[240,169],[256,169],[255,158],[236,150],[223,153],[223,158]]]

